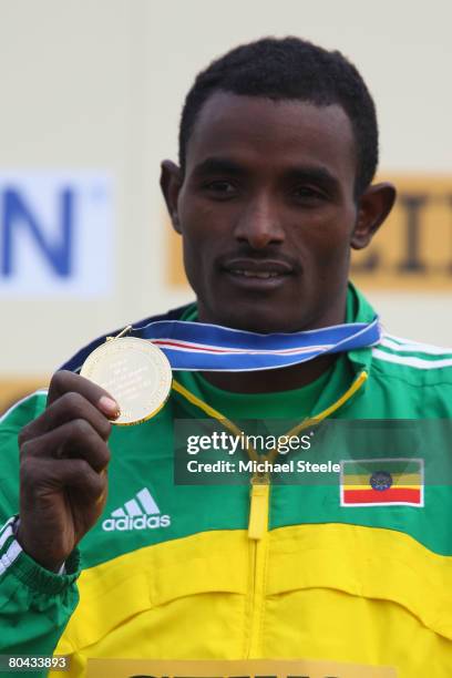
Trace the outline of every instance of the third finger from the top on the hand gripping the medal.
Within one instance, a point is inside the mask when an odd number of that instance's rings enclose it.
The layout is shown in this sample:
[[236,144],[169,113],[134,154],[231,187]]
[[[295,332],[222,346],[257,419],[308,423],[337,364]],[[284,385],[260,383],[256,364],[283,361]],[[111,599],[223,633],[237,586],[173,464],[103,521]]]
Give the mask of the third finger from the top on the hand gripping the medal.
[[21,459],[27,458],[83,459],[99,473],[110,462],[110,450],[88,421],[75,419],[25,442],[21,448]]

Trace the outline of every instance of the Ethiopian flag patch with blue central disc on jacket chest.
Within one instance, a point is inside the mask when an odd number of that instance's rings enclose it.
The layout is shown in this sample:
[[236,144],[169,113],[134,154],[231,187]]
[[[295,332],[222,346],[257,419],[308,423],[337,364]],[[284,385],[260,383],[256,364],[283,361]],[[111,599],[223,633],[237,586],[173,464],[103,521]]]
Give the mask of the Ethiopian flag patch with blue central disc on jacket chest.
[[353,459],[340,466],[341,506],[423,506],[422,459]]

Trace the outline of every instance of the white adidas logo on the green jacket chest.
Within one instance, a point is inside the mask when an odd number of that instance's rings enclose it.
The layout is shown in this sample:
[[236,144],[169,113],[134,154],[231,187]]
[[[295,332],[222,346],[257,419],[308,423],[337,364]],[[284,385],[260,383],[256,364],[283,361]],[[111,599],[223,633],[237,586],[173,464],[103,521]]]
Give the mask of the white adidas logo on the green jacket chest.
[[124,508],[112,511],[112,515],[102,523],[105,532],[125,532],[130,530],[155,530],[156,527],[168,527],[171,517],[161,515],[147,487],[143,487],[130,502],[125,502]]

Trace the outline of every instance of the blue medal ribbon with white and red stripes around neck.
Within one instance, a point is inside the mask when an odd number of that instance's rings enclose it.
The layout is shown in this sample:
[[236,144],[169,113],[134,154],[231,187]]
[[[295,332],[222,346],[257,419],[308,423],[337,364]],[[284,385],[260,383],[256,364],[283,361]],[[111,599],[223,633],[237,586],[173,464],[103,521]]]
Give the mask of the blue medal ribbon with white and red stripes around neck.
[[246,372],[270,370],[374,346],[381,328],[372,322],[350,322],[292,333],[260,335],[217,325],[160,320],[133,328],[132,336],[155,343],[173,370]]

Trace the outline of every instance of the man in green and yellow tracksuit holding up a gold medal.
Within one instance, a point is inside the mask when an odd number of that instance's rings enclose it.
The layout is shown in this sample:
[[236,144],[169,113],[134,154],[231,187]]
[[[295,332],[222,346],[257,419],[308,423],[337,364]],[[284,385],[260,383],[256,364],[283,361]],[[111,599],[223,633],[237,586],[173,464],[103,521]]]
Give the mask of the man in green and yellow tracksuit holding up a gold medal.
[[[197,301],[167,318],[264,335],[373,321],[348,286],[350,248],[396,194],[371,184],[374,107],[339,52],[295,38],[233,50],[188,93],[179,151],[162,188]],[[20,521],[0,535],[3,654],[56,646],[71,676],[94,657],[449,676],[450,493],[439,510],[434,487],[424,506],[350,506],[338,485],[175,486],[172,435],[203,417],[450,418],[451,355],[384,337],[279,369],[182,371],[158,415],[112,430],[117,403],[75,373],[103,340],[54,376],[47,405],[38,393],[1,422],[4,520],[19,507],[21,431]],[[135,528],[144,512],[151,526]]]

